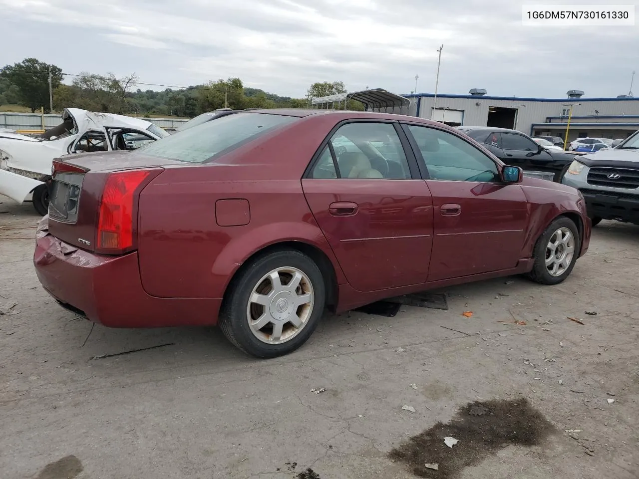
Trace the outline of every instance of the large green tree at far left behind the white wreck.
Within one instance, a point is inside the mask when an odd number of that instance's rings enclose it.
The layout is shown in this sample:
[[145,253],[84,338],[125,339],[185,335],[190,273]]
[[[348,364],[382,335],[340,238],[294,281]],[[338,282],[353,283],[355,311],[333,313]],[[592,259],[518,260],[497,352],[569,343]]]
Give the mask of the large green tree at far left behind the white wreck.
[[20,105],[30,108],[31,112],[40,107],[49,112],[49,70],[52,75],[51,86],[55,89],[62,82],[61,68],[35,58],[4,66],[0,69],[0,79],[17,87]]

